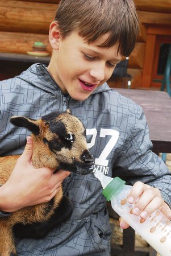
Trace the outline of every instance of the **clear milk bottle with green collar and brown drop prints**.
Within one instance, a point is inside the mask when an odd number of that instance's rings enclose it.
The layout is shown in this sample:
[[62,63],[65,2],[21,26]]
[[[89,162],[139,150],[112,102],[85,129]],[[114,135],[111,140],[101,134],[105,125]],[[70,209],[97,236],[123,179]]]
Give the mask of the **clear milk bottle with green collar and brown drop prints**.
[[127,195],[132,186],[119,177],[108,177],[100,171],[95,171],[103,187],[103,195],[111,201],[111,207],[162,256],[171,256],[171,221],[155,210],[148,218],[142,218],[132,213],[134,204],[127,202]]

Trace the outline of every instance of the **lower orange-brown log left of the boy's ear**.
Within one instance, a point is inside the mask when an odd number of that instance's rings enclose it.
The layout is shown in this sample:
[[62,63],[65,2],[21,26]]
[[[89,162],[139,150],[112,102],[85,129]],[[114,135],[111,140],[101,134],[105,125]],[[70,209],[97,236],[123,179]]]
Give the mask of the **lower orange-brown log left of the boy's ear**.
[[48,35],[1,32],[0,33],[0,52],[23,53],[32,51],[34,42],[43,42],[47,45],[47,51],[51,54],[52,49],[49,44]]

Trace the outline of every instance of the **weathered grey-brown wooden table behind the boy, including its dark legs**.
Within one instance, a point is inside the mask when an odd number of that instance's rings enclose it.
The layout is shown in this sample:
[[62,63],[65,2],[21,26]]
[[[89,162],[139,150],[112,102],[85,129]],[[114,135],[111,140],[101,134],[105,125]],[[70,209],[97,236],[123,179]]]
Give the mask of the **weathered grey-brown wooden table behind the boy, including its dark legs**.
[[[153,151],[171,152],[171,98],[166,92],[158,90],[134,90],[114,88],[123,96],[131,98],[139,104],[145,113],[149,125],[149,133],[153,143]],[[109,212],[110,212],[109,205]],[[112,211],[112,215],[114,212]],[[112,216],[111,215],[111,216]],[[123,230],[123,243],[111,243],[111,256],[156,256],[151,247],[135,247],[135,231],[131,227]]]

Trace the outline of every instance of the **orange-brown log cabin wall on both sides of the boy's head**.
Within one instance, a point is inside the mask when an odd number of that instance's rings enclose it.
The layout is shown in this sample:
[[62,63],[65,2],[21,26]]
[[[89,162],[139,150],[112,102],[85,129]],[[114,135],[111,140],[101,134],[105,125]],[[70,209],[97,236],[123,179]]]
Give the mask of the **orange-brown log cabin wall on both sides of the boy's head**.
[[[35,41],[47,45],[49,24],[54,19],[60,0],[1,0],[0,4],[0,55],[1,53],[22,53],[32,51]],[[151,87],[151,73],[155,49],[152,28],[162,28],[171,36],[170,0],[135,0],[140,19],[141,32],[128,62],[128,73],[132,76],[131,88]],[[153,30],[154,31],[154,30]],[[155,32],[153,32],[155,33]],[[148,39],[148,42],[147,42]],[[152,40],[152,41],[151,41]],[[152,52],[148,59],[149,52]],[[151,63],[149,67],[149,63]],[[1,73],[1,72],[0,72]],[[12,73],[9,76],[12,76]],[[3,78],[2,73],[0,79]],[[110,84],[115,86],[115,84]]]

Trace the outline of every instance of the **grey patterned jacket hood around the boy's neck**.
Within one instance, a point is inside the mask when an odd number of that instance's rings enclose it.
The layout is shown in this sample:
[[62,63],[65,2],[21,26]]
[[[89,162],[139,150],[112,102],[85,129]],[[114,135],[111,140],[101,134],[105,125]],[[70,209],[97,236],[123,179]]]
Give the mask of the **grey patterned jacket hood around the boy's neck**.
[[[35,87],[46,91],[47,93],[51,92],[52,94],[56,94],[57,91],[61,91],[59,85],[53,79],[51,74],[47,71],[47,65],[45,64],[33,64],[26,71],[22,72],[20,75],[16,77],[19,77],[19,79],[22,79],[28,82],[29,84],[32,84]],[[31,80],[30,77],[32,78]],[[101,93],[107,90],[111,90],[111,88],[105,82],[105,84],[95,89],[92,94]]]

